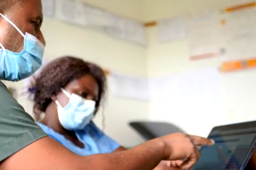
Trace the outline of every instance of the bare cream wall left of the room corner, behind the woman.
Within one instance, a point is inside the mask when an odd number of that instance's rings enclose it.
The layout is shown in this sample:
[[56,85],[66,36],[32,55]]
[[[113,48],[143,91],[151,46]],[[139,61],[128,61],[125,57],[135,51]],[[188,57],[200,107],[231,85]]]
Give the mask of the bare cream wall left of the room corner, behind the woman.
[[[87,0],[116,14],[141,19],[141,6],[137,0]],[[124,74],[146,76],[145,48],[137,44],[114,39],[104,33],[79,28],[53,19],[45,18],[42,32],[46,40],[45,57],[56,58],[74,55],[98,63],[100,66]],[[125,63],[125,65],[124,65]],[[7,83],[21,93],[23,82]],[[32,113],[32,103],[18,96],[18,102]],[[128,127],[127,122],[136,118],[147,118],[148,103],[117,99],[109,96],[105,108],[105,132],[122,145],[130,147],[140,143],[141,138]],[[101,127],[99,112],[96,123]]]

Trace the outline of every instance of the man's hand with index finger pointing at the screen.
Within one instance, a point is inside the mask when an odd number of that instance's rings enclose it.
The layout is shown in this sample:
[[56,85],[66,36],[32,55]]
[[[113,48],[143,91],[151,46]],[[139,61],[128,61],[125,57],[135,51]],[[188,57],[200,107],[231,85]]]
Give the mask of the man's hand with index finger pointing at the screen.
[[185,160],[181,169],[189,169],[197,162],[200,152],[196,146],[214,145],[213,140],[185,133],[172,133],[161,139],[165,143],[165,160]]

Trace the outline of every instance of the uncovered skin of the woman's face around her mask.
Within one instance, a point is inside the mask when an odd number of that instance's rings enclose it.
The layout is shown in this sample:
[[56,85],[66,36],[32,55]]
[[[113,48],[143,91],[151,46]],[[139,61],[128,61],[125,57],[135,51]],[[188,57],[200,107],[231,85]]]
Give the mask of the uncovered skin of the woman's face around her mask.
[[[80,79],[71,81],[65,87],[65,90],[69,94],[76,94],[87,100],[98,100],[98,83],[91,75],[85,75]],[[69,98],[63,92],[60,92],[56,96],[56,100],[60,103],[62,107],[68,104]]]

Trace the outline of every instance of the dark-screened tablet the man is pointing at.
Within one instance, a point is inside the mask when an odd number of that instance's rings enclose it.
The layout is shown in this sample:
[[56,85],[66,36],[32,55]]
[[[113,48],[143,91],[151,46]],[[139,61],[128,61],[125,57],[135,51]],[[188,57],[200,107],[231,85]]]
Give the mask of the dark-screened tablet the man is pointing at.
[[200,149],[193,170],[244,170],[256,146],[256,121],[216,126],[208,139],[215,145]]

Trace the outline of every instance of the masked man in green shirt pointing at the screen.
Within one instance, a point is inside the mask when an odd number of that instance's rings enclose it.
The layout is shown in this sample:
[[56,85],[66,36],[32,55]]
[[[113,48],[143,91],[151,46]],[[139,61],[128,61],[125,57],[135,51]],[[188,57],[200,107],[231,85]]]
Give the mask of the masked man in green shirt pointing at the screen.
[[[41,65],[45,40],[40,0],[0,0],[0,80],[19,81]],[[47,137],[0,82],[0,170],[152,170],[162,160],[196,163],[211,140],[173,133],[127,151],[75,155]],[[167,168],[167,167],[166,167]]]

